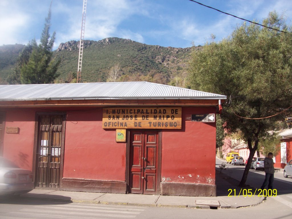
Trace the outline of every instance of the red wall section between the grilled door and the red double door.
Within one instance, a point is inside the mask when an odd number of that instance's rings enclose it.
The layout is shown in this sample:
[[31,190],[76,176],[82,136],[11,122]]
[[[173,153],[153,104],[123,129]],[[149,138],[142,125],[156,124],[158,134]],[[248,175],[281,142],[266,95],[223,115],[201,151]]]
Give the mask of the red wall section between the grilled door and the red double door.
[[102,128],[102,108],[67,111],[64,178],[125,181],[126,143]]

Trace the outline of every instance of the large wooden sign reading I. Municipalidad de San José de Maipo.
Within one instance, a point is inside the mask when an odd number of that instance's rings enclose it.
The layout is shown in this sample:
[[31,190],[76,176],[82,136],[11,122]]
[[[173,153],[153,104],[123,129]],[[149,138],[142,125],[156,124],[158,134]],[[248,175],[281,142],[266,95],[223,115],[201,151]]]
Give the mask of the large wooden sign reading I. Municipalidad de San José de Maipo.
[[181,107],[104,108],[102,128],[181,129]]

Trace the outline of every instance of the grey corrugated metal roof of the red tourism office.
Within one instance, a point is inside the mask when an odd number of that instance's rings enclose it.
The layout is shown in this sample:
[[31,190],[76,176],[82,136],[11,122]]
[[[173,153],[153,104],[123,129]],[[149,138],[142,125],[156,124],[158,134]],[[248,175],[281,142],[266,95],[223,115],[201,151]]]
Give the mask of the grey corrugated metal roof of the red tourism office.
[[73,99],[226,99],[226,96],[145,81],[0,86],[2,101]]

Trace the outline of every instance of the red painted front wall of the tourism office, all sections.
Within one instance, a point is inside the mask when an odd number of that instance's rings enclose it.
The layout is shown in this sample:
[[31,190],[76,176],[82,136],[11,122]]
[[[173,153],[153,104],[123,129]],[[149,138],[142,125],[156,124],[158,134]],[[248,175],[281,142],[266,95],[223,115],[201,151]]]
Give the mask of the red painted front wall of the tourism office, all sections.
[[[64,178],[125,181],[126,143],[114,129],[102,129],[102,108],[2,109],[6,127],[4,157],[32,170],[36,112],[66,112]],[[215,122],[191,122],[189,114],[215,113],[211,107],[183,107],[182,130],[162,131],[161,180],[215,185]]]

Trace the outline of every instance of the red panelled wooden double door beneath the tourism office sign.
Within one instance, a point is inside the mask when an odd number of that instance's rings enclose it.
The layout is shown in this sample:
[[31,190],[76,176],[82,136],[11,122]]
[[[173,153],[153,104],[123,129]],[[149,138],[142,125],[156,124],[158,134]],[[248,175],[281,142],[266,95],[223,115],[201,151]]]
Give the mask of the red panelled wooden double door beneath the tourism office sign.
[[159,189],[158,131],[130,131],[129,193],[157,194]]

